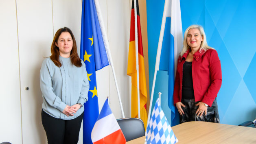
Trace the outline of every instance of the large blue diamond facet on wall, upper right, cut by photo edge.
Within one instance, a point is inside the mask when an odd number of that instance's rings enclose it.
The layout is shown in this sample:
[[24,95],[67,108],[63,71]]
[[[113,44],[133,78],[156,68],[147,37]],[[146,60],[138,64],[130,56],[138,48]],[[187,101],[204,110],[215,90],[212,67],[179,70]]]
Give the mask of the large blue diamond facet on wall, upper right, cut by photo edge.
[[255,44],[252,44],[256,38],[256,4],[254,4],[254,11],[247,6],[249,3],[240,2],[223,38],[242,77],[256,52]]

